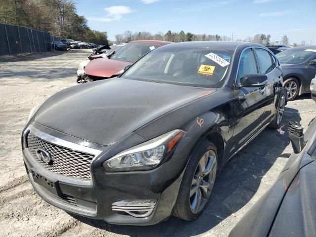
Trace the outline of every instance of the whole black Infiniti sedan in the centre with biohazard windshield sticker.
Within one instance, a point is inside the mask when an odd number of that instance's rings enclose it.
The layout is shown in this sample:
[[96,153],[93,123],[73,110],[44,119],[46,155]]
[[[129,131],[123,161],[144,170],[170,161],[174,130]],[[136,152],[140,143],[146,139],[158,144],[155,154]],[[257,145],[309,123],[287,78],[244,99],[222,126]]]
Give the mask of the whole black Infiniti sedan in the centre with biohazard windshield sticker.
[[161,46],[119,78],[69,87],[31,112],[30,181],[52,205],[113,224],[193,220],[224,164],[279,126],[281,79],[259,44]]

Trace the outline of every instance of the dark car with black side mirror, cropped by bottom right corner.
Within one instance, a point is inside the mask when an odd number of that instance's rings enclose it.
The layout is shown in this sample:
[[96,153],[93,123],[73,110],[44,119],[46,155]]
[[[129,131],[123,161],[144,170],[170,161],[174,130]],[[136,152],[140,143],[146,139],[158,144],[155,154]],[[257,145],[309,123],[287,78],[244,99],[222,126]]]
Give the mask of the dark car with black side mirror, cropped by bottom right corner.
[[316,119],[305,134],[297,122],[290,122],[288,131],[294,153],[230,237],[315,237]]

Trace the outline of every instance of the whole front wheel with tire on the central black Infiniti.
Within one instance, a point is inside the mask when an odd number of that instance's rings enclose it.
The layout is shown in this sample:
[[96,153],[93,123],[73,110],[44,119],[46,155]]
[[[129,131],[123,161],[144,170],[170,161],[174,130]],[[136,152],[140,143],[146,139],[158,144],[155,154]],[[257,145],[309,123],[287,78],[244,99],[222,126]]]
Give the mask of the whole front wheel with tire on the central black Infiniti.
[[217,149],[207,140],[194,150],[180,186],[174,215],[191,221],[203,211],[214,187],[217,165]]

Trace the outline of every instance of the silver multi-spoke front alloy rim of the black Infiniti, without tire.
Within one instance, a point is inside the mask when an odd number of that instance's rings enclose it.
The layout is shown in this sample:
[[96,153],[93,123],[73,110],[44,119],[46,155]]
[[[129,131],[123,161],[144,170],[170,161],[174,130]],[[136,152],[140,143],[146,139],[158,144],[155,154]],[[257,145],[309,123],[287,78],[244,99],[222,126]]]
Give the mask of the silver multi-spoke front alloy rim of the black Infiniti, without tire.
[[194,214],[203,209],[211,195],[216,169],[216,154],[209,150],[200,158],[191,183],[190,207]]

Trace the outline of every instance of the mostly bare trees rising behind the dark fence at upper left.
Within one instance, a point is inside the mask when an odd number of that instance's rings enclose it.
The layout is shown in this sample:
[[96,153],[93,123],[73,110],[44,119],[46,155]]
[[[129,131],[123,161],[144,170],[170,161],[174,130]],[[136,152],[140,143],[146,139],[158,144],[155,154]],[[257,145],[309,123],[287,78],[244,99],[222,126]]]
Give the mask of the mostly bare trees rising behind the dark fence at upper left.
[[0,0],[0,22],[59,38],[108,44],[107,32],[91,30],[87,19],[77,14],[73,0]]

